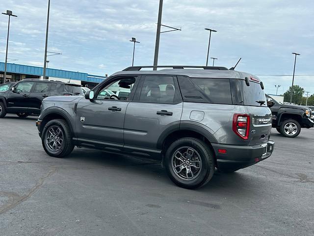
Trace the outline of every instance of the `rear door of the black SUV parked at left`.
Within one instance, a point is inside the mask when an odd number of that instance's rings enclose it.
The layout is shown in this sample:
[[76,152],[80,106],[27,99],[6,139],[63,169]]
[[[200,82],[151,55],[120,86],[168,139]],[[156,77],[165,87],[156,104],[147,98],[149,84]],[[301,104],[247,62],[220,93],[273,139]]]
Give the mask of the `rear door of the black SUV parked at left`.
[[40,113],[41,103],[44,98],[50,96],[51,83],[36,82],[34,89],[29,95],[29,110],[33,113]]

